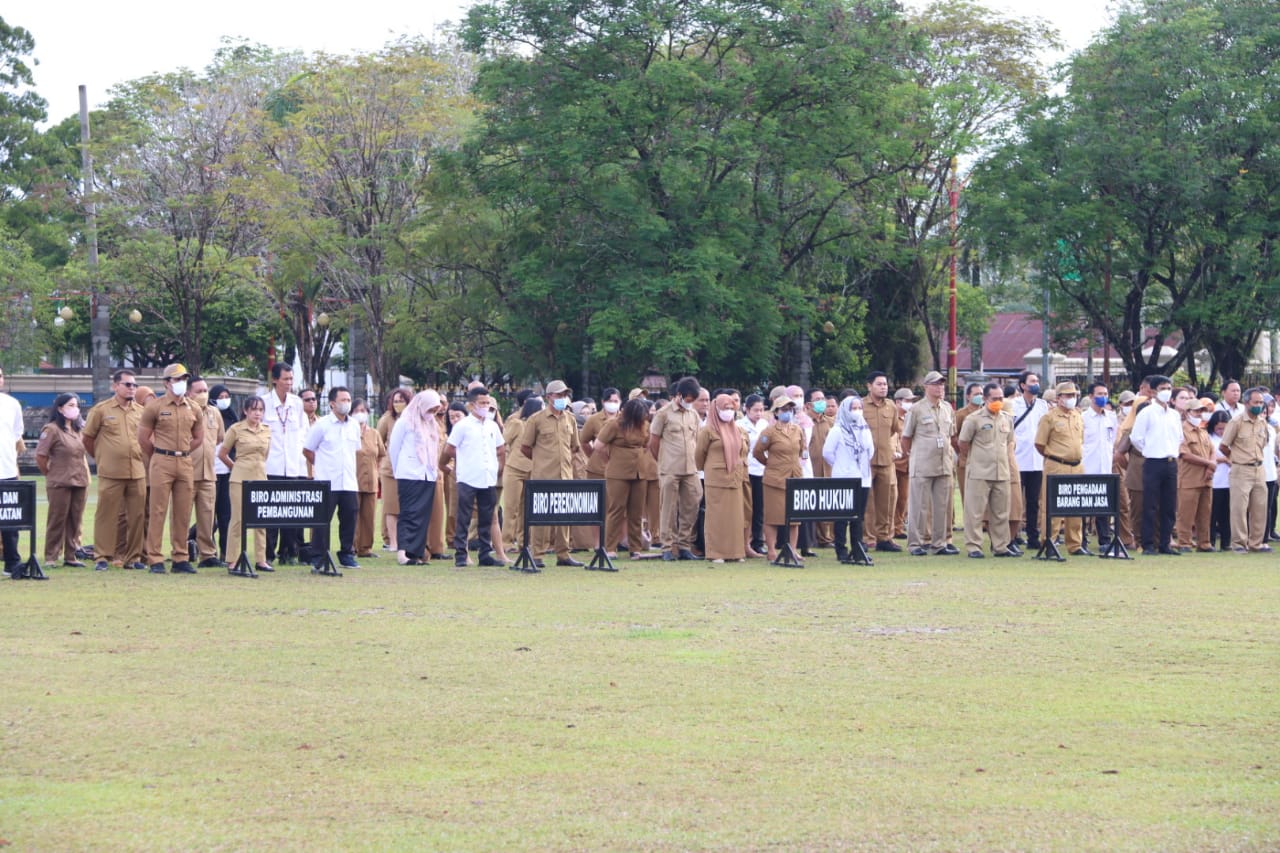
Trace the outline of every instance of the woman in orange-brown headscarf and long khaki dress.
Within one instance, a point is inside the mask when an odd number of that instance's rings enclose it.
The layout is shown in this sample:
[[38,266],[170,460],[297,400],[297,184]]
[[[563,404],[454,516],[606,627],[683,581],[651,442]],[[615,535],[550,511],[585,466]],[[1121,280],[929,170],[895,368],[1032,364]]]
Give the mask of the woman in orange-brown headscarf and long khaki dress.
[[741,562],[746,557],[750,535],[751,516],[742,501],[742,483],[746,480],[746,450],[751,442],[735,423],[736,415],[733,398],[718,394],[694,446],[694,461],[704,475],[707,520],[703,537],[707,558],[712,562]]

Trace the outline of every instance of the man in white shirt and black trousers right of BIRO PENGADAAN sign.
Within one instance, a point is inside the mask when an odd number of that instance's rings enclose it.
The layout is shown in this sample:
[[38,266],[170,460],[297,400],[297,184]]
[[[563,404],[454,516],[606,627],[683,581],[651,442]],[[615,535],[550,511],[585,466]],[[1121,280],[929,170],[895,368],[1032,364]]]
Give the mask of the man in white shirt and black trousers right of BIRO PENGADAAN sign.
[[1183,412],[1190,403],[1190,393],[1179,391],[1175,397],[1169,377],[1149,377],[1147,384],[1156,398],[1138,412],[1129,433],[1129,441],[1142,453],[1142,552],[1176,556],[1172,537],[1178,515],[1178,457],[1187,441]]

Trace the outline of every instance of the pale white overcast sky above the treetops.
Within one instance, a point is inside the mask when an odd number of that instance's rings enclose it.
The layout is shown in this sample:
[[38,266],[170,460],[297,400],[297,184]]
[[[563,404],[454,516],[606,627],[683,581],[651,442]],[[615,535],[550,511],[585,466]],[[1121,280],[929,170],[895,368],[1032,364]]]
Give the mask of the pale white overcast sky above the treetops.
[[[223,36],[244,37],[280,50],[369,51],[401,35],[434,33],[458,22],[467,0],[314,0],[306,5],[271,0],[173,0],[120,3],[27,3],[3,15],[36,40],[36,90],[59,122],[79,109],[78,86],[88,86],[90,106],[111,86],[177,68],[204,68]],[[908,5],[920,6],[919,0]],[[1018,17],[1041,17],[1059,28],[1071,50],[1110,19],[1107,0],[988,0]],[[1060,59],[1060,56],[1053,58]]]

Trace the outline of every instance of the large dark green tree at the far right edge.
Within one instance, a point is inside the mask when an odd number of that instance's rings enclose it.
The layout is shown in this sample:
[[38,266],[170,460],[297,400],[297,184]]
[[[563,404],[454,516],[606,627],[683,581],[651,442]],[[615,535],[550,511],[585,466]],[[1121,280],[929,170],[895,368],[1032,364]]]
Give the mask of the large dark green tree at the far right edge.
[[1130,375],[1197,382],[1201,347],[1210,379],[1239,375],[1277,320],[1277,56],[1271,4],[1126,6],[975,173],[992,256],[1032,261]]

